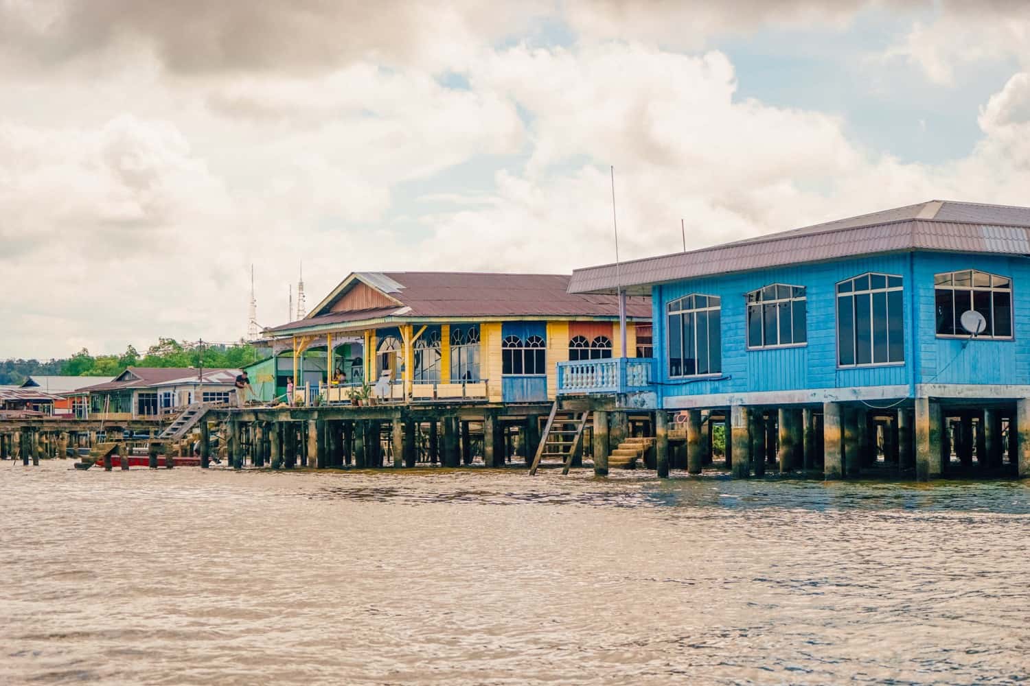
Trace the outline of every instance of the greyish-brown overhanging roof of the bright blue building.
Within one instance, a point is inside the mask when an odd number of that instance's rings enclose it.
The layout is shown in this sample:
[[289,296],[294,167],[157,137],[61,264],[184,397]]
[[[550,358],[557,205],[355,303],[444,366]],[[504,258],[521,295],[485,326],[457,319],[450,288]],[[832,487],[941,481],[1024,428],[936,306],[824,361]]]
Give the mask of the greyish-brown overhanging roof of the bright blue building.
[[1030,208],[929,201],[690,252],[573,272],[575,293],[650,293],[718,274],[912,250],[1030,254]]

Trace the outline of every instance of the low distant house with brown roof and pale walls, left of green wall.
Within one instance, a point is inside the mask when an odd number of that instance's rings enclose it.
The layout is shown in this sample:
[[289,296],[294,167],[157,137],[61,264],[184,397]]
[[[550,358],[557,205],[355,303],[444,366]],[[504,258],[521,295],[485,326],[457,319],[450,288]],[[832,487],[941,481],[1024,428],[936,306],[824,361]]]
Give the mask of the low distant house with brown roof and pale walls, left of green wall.
[[158,417],[193,402],[228,403],[238,369],[128,367],[112,381],[79,389],[89,417],[109,420]]

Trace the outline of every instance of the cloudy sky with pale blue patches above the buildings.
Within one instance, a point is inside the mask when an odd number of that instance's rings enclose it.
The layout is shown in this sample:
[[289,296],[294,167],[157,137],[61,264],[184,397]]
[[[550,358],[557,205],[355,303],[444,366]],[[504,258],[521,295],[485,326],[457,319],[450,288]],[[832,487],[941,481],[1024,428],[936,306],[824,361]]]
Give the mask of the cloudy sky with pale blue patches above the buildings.
[[1024,0],[0,0],[0,359],[357,270],[570,273],[1030,205]]

